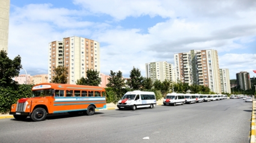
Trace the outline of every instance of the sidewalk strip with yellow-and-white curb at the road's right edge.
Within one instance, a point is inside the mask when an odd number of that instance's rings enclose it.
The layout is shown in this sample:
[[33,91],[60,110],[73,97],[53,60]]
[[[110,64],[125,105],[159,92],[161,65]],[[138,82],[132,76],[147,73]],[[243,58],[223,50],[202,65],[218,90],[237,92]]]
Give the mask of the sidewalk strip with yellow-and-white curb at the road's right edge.
[[253,98],[251,112],[251,143],[256,143],[256,98]]

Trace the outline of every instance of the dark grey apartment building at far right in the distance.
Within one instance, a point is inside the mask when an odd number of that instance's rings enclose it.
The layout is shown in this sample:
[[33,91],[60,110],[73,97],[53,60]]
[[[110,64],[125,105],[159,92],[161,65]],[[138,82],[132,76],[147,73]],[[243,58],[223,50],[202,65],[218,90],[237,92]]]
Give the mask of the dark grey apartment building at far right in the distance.
[[243,90],[251,89],[250,73],[247,71],[240,71],[236,74],[237,85]]

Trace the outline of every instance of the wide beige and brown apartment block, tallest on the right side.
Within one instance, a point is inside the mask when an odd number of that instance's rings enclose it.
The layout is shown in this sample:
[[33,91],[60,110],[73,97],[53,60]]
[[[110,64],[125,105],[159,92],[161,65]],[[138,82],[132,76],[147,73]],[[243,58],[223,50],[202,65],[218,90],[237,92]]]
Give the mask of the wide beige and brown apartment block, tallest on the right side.
[[190,50],[174,54],[176,80],[189,85],[204,85],[221,93],[220,71],[216,50]]

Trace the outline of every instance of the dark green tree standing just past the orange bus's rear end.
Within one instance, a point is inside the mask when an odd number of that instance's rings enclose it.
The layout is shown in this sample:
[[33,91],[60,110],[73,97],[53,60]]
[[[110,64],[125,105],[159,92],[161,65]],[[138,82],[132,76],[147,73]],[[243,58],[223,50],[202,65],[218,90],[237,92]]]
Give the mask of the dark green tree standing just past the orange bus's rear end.
[[122,77],[122,72],[113,72],[110,71],[110,78],[108,78],[109,83],[106,84],[107,87],[113,87],[116,89],[121,89],[125,85],[125,79]]

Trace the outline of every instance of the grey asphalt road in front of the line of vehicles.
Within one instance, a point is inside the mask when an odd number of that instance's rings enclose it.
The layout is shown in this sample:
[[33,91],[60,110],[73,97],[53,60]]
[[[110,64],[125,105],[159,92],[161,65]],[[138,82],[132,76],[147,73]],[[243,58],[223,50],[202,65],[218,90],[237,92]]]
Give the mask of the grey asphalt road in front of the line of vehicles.
[[7,118],[0,120],[0,143],[248,143],[251,107],[241,98],[41,122]]

